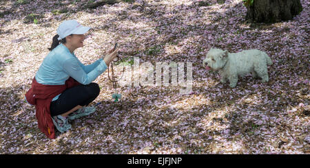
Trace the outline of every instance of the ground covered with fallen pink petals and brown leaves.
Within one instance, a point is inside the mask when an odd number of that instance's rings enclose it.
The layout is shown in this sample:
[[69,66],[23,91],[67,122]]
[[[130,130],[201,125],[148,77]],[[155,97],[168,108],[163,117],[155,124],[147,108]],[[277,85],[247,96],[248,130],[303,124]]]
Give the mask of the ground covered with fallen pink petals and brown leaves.
[[[304,9],[292,21],[256,25],[245,23],[242,0],[207,2],[144,0],[81,10],[87,1],[1,1],[0,153],[308,154],[309,1],[301,0]],[[93,104],[103,101],[97,111],[47,139],[23,95],[67,19],[93,28],[75,52],[81,62],[100,58],[117,41],[123,58],[192,62],[193,93],[123,87],[114,103],[105,72],[95,81],[101,94]],[[265,51],[273,60],[270,81],[248,75],[236,88],[220,84],[202,67],[211,47]]]

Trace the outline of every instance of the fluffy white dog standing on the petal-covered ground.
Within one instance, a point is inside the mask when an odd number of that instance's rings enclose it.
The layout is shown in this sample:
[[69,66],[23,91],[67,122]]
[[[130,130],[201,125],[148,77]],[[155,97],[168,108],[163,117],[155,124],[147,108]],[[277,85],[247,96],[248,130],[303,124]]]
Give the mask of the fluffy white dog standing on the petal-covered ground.
[[[207,64],[207,67],[205,66]],[[220,82],[225,84],[229,80],[231,88],[236,87],[238,76],[252,73],[253,77],[262,78],[262,82],[268,82],[267,65],[272,61],[263,51],[250,49],[239,53],[229,53],[227,50],[210,49],[203,60],[203,67],[220,72]]]

